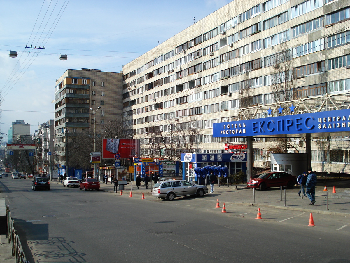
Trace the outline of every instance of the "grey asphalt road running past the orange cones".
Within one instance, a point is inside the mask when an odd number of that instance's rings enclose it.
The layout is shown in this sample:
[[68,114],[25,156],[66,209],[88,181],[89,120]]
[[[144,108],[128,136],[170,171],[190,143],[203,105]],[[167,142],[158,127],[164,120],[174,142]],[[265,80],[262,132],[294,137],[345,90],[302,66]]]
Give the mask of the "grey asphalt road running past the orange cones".
[[[349,218],[230,206],[205,196],[161,201],[51,184],[0,180],[30,262],[349,263]],[[314,216],[315,217],[315,216]],[[306,221],[306,222],[305,222]],[[23,242],[24,241],[24,242]]]

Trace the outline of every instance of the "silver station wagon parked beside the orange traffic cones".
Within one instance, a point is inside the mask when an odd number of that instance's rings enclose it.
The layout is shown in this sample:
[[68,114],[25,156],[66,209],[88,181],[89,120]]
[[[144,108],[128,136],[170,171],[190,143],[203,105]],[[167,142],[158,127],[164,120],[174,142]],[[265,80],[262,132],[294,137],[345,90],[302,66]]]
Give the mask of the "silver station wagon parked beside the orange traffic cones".
[[169,180],[155,183],[152,195],[161,199],[174,200],[177,196],[196,195],[203,196],[208,193],[206,186],[190,183],[185,180]]

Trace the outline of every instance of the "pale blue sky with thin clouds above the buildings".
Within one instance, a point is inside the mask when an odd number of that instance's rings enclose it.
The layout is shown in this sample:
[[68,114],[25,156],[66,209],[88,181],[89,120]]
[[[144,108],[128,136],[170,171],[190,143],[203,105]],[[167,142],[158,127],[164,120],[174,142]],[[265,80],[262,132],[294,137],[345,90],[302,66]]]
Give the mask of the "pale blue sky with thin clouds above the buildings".
[[[67,69],[120,72],[122,66],[231,0],[1,0],[3,140],[15,120],[54,119],[55,81]],[[26,48],[36,46],[39,48]],[[45,49],[43,49],[45,47]],[[8,56],[17,51],[17,58]],[[66,54],[66,61],[59,60]]]

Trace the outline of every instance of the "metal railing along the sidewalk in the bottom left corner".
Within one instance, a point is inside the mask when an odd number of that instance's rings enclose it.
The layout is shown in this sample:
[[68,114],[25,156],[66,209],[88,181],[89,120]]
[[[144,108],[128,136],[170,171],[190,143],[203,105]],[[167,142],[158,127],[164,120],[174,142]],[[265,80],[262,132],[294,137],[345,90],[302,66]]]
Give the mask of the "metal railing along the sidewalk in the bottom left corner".
[[7,215],[7,237],[8,243],[11,243],[12,256],[15,257],[16,263],[29,263],[23,253],[22,244],[17,231],[14,227],[14,220],[11,217],[11,212],[9,206],[6,205],[6,215]]

